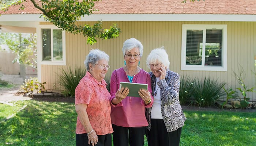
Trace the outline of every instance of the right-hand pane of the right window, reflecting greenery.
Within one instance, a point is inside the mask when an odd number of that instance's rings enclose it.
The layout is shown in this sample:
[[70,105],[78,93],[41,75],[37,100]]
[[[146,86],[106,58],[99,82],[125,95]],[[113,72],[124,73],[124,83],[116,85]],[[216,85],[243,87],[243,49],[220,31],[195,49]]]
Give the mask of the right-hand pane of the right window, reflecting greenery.
[[205,65],[222,66],[222,30],[206,30]]

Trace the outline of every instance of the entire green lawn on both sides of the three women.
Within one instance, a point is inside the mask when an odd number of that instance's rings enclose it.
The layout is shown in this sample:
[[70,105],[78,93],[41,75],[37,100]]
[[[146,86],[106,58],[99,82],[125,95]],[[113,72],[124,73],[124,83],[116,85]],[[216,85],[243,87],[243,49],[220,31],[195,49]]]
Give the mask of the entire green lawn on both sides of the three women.
[[[1,146],[75,145],[74,103],[29,100],[14,104],[27,107],[0,123]],[[0,104],[0,109],[4,106]],[[181,146],[255,145],[256,112],[185,111],[185,115],[187,121],[182,128]],[[146,138],[144,146],[147,146]]]

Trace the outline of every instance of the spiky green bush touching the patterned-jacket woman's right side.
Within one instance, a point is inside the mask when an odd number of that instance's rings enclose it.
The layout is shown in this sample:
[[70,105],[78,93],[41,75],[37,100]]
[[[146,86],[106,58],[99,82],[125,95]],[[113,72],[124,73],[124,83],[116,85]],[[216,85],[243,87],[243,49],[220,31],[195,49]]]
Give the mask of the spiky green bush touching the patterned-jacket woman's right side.
[[180,78],[180,92],[179,92],[179,100],[180,104],[184,105],[189,103],[192,95],[192,85],[195,82],[195,78],[190,78],[188,76],[182,76]]

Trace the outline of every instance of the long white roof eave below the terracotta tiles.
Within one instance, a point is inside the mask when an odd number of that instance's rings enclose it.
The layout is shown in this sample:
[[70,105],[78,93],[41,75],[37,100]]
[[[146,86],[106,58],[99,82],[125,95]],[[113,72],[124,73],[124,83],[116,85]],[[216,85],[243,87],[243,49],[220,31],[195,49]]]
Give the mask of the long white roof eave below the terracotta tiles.
[[[3,14],[0,22],[44,22],[41,14]],[[255,22],[256,15],[244,14],[93,14],[79,21],[237,21]]]

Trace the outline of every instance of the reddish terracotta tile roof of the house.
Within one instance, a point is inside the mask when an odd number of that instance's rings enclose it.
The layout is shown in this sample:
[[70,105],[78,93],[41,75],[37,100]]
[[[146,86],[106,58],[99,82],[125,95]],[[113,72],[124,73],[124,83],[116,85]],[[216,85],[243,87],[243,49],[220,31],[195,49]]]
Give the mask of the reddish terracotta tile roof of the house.
[[[16,5],[0,14],[41,14],[30,0],[24,5],[24,10]],[[101,0],[95,8],[94,14],[256,14],[256,0]]]

